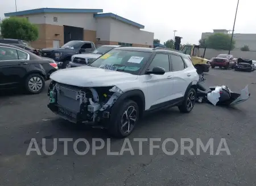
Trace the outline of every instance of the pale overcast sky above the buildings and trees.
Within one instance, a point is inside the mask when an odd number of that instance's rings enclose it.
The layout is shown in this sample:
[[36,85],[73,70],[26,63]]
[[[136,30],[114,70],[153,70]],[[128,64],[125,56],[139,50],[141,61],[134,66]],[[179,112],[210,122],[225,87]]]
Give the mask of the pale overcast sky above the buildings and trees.
[[[114,13],[145,26],[146,31],[155,33],[161,43],[181,36],[182,43],[197,44],[201,32],[213,29],[232,30],[236,0],[16,0],[17,11],[42,7],[103,9],[104,13]],[[253,0],[240,1],[235,32],[255,33]],[[2,0],[0,17],[15,11],[15,1]]]

